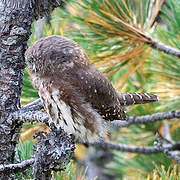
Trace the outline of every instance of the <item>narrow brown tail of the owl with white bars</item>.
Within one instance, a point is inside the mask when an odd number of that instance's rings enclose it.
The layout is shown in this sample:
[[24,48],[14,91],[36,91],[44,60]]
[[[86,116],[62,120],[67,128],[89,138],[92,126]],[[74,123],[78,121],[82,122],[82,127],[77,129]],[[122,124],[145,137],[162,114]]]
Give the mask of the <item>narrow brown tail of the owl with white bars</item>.
[[120,93],[119,100],[122,106],[130,106],[133,104],[145,104],[158,101],[155,94],[148,93]]

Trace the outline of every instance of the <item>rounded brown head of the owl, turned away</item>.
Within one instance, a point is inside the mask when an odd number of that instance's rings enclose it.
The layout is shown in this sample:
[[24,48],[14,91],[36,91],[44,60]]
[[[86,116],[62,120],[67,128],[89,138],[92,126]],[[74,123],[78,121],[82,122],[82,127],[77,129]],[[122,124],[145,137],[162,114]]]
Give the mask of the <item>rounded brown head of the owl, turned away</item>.
[[39,76],[89,65],[85,52],[76,42],[56,35],[41,38],[31,45],[25,59],[31,73]]

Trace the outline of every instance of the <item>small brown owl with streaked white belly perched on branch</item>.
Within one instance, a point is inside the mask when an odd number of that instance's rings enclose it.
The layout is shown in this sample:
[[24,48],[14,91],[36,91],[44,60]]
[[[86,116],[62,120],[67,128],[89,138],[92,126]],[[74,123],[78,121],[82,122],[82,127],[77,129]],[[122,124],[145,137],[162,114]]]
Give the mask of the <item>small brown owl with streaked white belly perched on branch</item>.
[[42,38],[25,56],[45,110],[57,127],[79,141],[96,141],[108,122],[125,120],[123,106],[157,101],[153,94],[116,91],[83,49],[65,37]]

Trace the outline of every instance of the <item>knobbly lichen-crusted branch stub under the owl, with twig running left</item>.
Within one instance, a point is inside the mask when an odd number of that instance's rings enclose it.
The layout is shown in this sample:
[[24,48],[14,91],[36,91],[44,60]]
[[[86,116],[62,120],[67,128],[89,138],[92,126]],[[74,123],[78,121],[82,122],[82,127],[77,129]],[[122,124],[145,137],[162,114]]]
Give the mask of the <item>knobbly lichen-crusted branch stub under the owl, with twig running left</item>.
[[53,123],[48,134],[36,136],[35,157],[16,164],[2,164],[0,174],[22,172],[33,166],[36,179],[50,179],[52,170],[64,170],[62,164],[67,164],[74,153],[74,138],[63,129],[57,129]]

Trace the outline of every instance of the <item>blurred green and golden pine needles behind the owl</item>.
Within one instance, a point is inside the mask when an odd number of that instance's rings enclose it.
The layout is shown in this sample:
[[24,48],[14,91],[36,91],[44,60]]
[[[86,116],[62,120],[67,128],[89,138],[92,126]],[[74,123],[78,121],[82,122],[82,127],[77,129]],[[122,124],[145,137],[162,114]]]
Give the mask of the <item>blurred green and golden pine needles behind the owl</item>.
[[[80,44],[91,63],[108,76],[120,92],[150,92],[159,103],[128,107],[128,116],[180,109],[180,60],[153,49],[146,37],[180,49],[179,0],[67,0],[51,16],[34,22],[29,45],[41,37],[63,35]],[[31,77],[24,72],[23,105],[38,98]],[[111,140],[126,145],[150,146],[155,133],[173,141],[180,139],[180,121],[164,120],[136,124],[111,131]],[[23,125],[16,160],[33,154],[35,132],[48,131],[41,123]],[[109,179],[180,179],[180,166],[162,153],[143,155],[110,152],[103,173]],[[53,173],[54,179],[85,180],[89,148],[77,145],[66,170]],[[32,169],[16,174],[17,179],[33,179]],[[100,178],[93,178],[100,179]],[[103,178],[102,178],[103,180]]]

